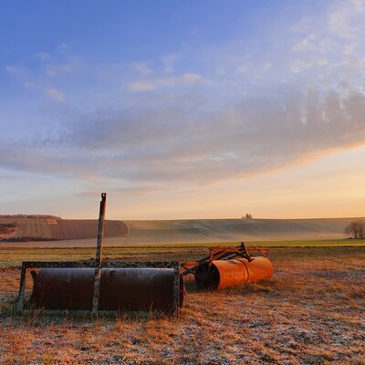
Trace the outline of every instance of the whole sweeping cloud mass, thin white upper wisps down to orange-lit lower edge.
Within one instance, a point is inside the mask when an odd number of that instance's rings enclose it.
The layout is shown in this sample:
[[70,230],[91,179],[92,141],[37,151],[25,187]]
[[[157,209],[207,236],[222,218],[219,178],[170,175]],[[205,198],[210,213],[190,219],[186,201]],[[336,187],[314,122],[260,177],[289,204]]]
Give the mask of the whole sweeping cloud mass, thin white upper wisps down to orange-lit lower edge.
[[[358,5],[346,4],[346,19],[356,20]],[[48,84],[49,76],[68,73],[60,67],[68,62],[46,65],[48,77],[42,63],[27,81],[63,102],[44,102],[45,121],[34,136],[2,141],[0,167],[96,176],[116,192],[149,193],[253,176],[363,145],[363,26],[333,16],[341,7],[330,5],[297,26],[290,19],[285,31],[268,26],[267,47],[258,50],[246,38],[184,47],[160,57],[160,71],[151,64],[153,72],[138,61],[85,62],[81,75],[68,78],[76,99],[65,98],[58,78]],[[351,39],[336,35],[339,25],[350,26]],[[287,29],[295,31],[287,36]]]

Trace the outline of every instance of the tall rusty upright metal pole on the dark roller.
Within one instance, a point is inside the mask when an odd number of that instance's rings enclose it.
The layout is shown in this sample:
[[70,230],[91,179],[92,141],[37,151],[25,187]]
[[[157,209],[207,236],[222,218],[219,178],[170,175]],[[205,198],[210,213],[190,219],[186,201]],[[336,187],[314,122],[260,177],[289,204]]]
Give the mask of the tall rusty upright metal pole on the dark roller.
[[102,254],[102,239],[104,234],[104,219],[105,219],[105,206],[107,200],[107,193],[101,193],[101,202],[99,210],[99,225],[98,225],[98,240],[97,240],[97,252],[95,255],[95,281],[94,281],[94,296],[92,298],[92,314],[98,314],[99,307],[99,292],[100,292],[100,265]]

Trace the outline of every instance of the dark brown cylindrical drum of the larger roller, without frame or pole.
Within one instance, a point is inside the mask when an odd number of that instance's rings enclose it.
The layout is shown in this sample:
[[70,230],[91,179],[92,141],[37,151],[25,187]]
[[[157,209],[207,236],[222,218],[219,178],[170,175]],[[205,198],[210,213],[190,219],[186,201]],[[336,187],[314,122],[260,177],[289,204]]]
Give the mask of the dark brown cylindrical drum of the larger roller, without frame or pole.
[[[33,273],[29,303],[46,309],[92,308],[93,268],[43,268]],[[170,268],[102,268],[99,310],[174,310]],[[180,276],[179,305],[183,307],[183,276]]]

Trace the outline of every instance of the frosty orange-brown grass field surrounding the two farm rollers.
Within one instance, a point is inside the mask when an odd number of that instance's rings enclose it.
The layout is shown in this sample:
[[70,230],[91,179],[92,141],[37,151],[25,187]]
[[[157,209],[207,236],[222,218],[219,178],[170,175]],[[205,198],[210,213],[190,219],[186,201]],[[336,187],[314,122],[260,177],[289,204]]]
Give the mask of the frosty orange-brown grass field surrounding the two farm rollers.
[[[1,249],[0,363],[365,364],[365,245],[344,244],[273,247],[274,278],[249,287],[199,292],[189,279],[178,319],[97,321],[13,310],[22,260],[87,259],[93,249]],[[206,246],[106,247],[104,257],[189,261]]]

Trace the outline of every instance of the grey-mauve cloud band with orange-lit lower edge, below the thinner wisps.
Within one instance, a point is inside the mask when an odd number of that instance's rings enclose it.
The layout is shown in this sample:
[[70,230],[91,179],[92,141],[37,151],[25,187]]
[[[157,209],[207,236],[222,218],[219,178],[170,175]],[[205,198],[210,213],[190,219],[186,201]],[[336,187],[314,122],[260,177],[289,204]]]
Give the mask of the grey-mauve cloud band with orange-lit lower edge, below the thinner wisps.
[[162,100],[163,112],[141,99],[136,110],[78,116],[59,136],[4,145],[0,163],[75,177],[94,172],[122,179],[126,189],[168,187],[251,176],[365,143],[365,97],[357,89],[311,86],[292,89],[290,98],[283,89],[274,99],[227,104],[219,114],[201,113],[193,98]]

